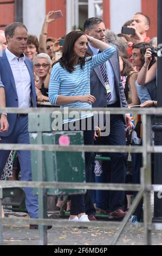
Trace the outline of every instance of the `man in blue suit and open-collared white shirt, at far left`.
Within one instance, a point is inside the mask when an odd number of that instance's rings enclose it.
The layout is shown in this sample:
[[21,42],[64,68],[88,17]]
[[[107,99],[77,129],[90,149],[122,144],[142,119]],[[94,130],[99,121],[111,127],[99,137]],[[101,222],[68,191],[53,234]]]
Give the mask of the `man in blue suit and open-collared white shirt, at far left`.
[[[1,86],[5,89],[7,107],[36,107],[33,63],[26,59],[27,28],[14,22],[5,28],[8,48],[0,57]],[[3,113],[5,114],[5,113]],[[2,143],[29,144],[28,115],[8,114],[9,129],[0,132]],[[10,151],[0,151],[0,176]],[[21,166],[22,180],[31,180],[30,151],[17,151]],[[31,218],[38,217],[38,201],[31,188],[24,188],[26,207]],[[30,225],[33,228],[34,225]],[[35,227],[35,226],[34,226]],[[35,227],[36,228],[36,227]]]

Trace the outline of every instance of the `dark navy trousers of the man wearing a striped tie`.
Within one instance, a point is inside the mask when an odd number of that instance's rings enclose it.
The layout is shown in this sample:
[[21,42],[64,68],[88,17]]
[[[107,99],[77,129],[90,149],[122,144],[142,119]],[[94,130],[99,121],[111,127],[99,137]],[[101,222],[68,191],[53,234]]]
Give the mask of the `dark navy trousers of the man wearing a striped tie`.
[[[116,105],[111,105],[116,107]],[[99,139],[100,145],[126,145],[124,119],[122,115],[110,115],[110,133]],[[108,153],[111,157],[111,183],[125,183],[127,154]],[[124,210],[125,191],[109,191],[109,211]]]

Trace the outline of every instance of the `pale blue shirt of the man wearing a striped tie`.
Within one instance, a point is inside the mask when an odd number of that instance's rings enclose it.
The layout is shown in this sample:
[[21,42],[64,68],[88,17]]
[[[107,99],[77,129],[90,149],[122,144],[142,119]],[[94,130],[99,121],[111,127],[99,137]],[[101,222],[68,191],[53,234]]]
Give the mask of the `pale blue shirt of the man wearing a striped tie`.
[[[99,53],[99,49],[94,48],[91,45],[89,45],[89,47],[94,55]],[[111,88],[111,95],[112,95],[111,100],[109,100],[107,102],[107,105],[111,105],[111,104],[114,104],[118,100],[118,97],[116,95],[116,89],[115,89],[115,84],[114,84],[114,81],[115,81],[114,71],[113,71],[112,65],[109,62],[109,60],[107,60],[107,62],[106,62],[106,71],[107,71],[109,87]]]

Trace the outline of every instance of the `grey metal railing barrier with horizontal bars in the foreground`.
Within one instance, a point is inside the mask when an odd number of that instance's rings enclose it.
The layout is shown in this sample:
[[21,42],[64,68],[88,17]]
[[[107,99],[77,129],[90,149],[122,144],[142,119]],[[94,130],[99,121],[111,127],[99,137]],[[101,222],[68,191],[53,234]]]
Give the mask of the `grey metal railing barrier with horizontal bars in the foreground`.
[[[60,109],[60,108],[39,108],[39,109],[18,109],[18,108],[1,108],[0,113],[33,113],[33,114],[42,114],[46,111],[47,113],[53,113],[55,111],[59,112],[70,112],[70,111],[89,111],[89,109]],[[92,109],[91,112],[96,112],[96,109]],[[105,108],[98,108],[97,110],[106,112]],[[124,114],[129,112],[128,109],[124,108],[110,108],[108,111],[111,114]],[[20,145],[20,144],[0,144],[0,150],[37,150],[37,151],[79,151],[79,152],[127,152],[127,153],[142,153],[143,164],[140,172],[141,184],[82,184],[82,183],[73,183],[73,182],[43,182],[43,181],[0,181],[0,188],[2,187],[36,187],[39,188],[39,204],[41,205],[43,200],[43,188],[73,188],[73,189],[90,189],[90,190],[125,190],[125,191],[139,191],[135,197],[131,208],[128,210],[127,215],[124,217],[122,222],[108,222],[108,227],[117,228],[116,234],[114,235],[114,240],[112,245],[118,241],[119,236],[124,230],[126,224],[130,227],[144,227],[145,230],[145,244],[151,245],[151,230],[157,229],[162,230],[162,223],[152,223],[151,216],[151,191],[161,191],[162,185],[151,185],[151,153],[162,153],[162,146],[151,146],[150,134],[151,134],[151,115],[161,114],[162,108],[145,108],[145,109],[131,109],[131,113],[137,113],[142,115],[142,145],[139,147],[129,147],[129,146],[91,146],[91,145],[75,145],[75,146],[60,146],[60,145]],[[148,115],[148,117],[147,117]],[[43,167],[41,167],[43,168]],[[40,170],[42,172],[42,170]],[[2,197],[0,190],[0,198]],[[137,208],[140,199],[144,197],[144,224],[133,224],[129,223],[128,220],[133,214],[134,210]],[[0,200],[1,207],[1,200]],[[0,209],[1,214],[1,209]],[[55,227],[85,227],[85,223],[70,223],[67,221],[55,221],[55,220],[45,220],[43,214],[39,216],[39,219],[24,219],[18,218],[17,220],[10,220],[7,218],[0,218],[0,243],[3,242],[2,236],[2,224],[4,223],[17,223],[17,224],[39,224],[40,229],[40,245],[47,244],[47,227],[45,225],[55,225]],[[106,222],[90,222],[86,223],[86,227],[106,227]]]

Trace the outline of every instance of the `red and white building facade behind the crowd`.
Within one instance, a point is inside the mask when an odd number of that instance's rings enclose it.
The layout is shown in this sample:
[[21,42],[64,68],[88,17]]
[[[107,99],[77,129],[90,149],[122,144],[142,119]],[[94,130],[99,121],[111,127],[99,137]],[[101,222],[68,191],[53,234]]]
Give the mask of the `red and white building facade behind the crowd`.
[[[58,38],[82,26],[87,17],[102,16],[106,27],[115,33],[134,13],[142,11],[151,19],[148,36],[157,35],[157,0],[0,0],[0,28],[14,21],[23,21],[29,33],[39,34],[45,14],[62,10],[63,18],[49,26],[49,35]],[[35,14],[34,14],[35,13]]]

